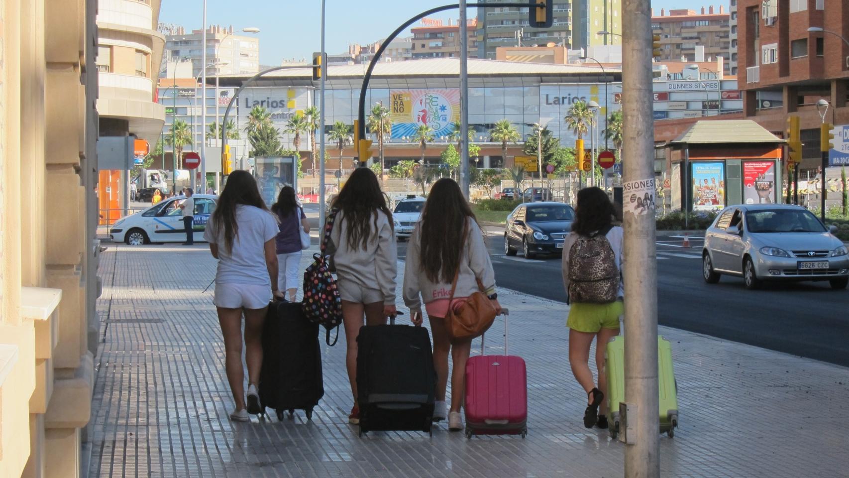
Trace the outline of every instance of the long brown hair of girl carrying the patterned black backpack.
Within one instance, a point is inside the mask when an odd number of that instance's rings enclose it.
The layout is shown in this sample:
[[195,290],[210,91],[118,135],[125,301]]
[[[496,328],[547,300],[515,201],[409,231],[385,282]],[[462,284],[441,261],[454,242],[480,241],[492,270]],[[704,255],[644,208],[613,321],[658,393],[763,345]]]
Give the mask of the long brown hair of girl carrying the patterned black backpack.
[[386,207],[386,198],[380,191],[377,177],[367,167],[354,169],[331,207],[342,211],[342,220],[348,222],[345,240],[353,250],[368,247],[371,232],[368,222],[374,220],[374,229],[377,229],[377,211],[383,211],[390,228],[395,231],[392,227],[392,212]]

